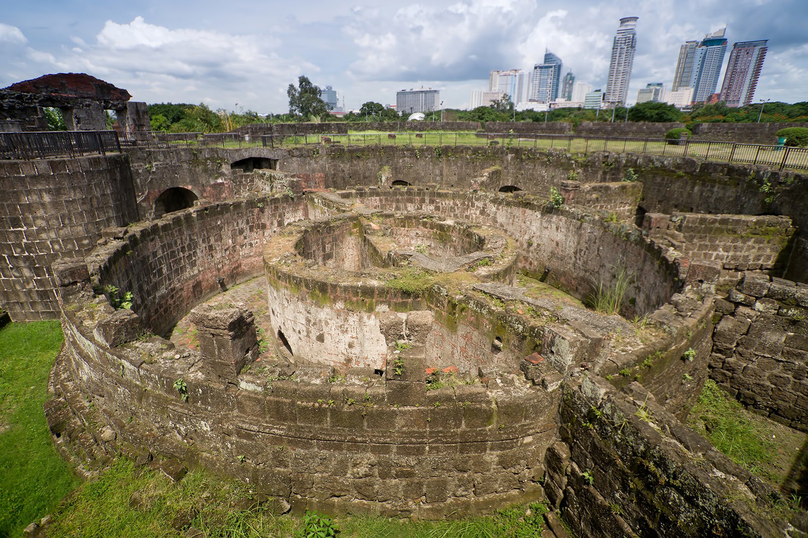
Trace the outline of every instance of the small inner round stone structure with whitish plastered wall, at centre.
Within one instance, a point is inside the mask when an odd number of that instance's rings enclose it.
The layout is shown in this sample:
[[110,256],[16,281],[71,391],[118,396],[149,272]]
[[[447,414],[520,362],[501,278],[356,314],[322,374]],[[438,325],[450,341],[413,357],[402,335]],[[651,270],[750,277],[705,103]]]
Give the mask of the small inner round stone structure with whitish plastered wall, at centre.
[[[510,284],[515,242],[503,233],[424,213],[343,215],[288,227],[264,256],[271,325],[294,360],[388,367],[394,347],[422,348],[434,364],[488,364],[435,323],[440,283]],[[433,288],[437,288],[433,289]],[[435,301],[439,298],[439,301]],[[496,353],[494,353],[496,355]]]

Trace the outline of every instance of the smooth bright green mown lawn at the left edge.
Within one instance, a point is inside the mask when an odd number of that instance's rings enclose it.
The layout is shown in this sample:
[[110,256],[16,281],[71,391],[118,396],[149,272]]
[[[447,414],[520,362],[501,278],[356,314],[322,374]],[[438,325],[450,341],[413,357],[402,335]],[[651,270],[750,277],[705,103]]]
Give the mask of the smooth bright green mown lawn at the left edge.
[[21,535],[78,485],[53,447],[42,410],[62,339],[59,322],[0,330],[0,536]]

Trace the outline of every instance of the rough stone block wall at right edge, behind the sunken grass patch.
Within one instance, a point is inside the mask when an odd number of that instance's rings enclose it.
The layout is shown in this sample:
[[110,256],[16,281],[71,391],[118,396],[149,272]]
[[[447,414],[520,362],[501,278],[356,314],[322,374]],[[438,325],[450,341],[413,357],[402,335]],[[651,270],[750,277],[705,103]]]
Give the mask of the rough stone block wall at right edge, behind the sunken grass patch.
[[747,273],[718,313],[710,377],[743,404],[808,431],[808,286]]

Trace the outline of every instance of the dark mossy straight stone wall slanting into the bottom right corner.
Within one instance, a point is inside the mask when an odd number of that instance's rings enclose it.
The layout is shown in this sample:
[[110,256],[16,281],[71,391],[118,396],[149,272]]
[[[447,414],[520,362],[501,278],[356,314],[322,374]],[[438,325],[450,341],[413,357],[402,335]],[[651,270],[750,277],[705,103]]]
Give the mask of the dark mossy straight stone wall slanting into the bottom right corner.
[[563,385],[545,493],[577,536],[783,536],[768,485],[636,383]]

